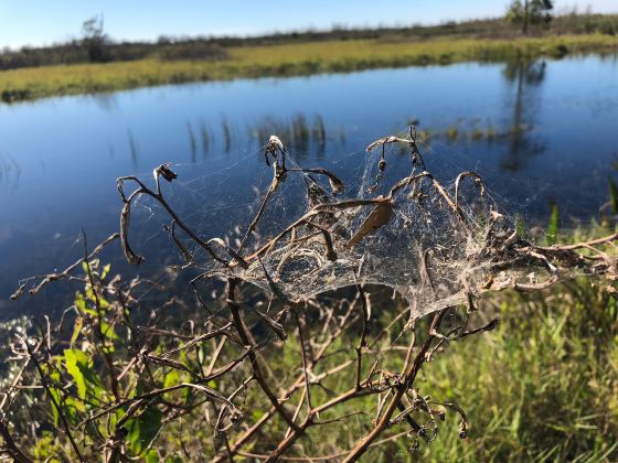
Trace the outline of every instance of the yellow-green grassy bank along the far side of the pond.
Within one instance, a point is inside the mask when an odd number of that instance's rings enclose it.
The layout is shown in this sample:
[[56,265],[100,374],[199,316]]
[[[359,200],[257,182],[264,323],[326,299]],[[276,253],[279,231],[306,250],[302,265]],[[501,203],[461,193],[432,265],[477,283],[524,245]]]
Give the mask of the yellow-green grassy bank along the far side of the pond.
[[227,58],[214,61],[147,58],[4,71],[0,72],[0,99],[12,103],[187,82],[614,53],[618,51],[618,39],[603,34],[516,40],[398,37],[237,46],[226,51]]

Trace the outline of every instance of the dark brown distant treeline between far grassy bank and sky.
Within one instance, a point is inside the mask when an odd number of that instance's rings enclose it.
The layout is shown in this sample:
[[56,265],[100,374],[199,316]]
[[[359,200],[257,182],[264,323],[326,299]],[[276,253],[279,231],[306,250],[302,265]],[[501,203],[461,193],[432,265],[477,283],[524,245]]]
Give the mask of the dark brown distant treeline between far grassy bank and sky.
[[[531,30],[530,35],[546,34],[618,34],[618,14],[567,14],[554,18],[551,29]],[[107,37],[92,51],[92,41],[74,40],[46,47],[23,46],[0,52],[0,71],[20,67],[35,67],[58,64],[108,63],[158,58],[162,61],[189,60],[212,61],[228,57],[227,47],[256,46],[269,44],[320,42],[331,40],[427,40],[440,36],[496,37],[518,35],[518,29],[504,19],[447,22],[439,25],[407,28],[348,29],[335,26],[329,31],[307,30],[283,32],[253,37],[168,37],[156,42],[114,42]],[[95,58],[96,57],[96,58]]]

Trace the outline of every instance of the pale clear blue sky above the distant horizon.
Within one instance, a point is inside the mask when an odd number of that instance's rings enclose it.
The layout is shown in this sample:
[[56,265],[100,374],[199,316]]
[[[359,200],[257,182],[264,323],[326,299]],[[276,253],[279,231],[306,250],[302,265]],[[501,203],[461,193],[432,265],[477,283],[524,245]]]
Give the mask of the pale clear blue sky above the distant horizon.
[[[255,35],[333,24],[433,24],[501,15],[509,0],[0,0],[0,47],[62,42],[79,34],[82,22],[103,13],[114,39],[167,35]],[[618,0],[560,1],[618,12]]]

